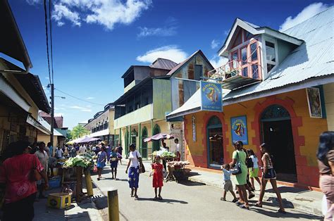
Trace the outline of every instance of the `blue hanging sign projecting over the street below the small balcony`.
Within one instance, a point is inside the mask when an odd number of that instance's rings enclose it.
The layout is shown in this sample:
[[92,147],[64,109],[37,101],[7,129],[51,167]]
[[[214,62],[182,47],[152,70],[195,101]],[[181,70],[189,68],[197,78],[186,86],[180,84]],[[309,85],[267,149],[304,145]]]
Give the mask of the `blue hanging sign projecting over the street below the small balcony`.
[[201,81],[201,110],[223,111],[221,84]]

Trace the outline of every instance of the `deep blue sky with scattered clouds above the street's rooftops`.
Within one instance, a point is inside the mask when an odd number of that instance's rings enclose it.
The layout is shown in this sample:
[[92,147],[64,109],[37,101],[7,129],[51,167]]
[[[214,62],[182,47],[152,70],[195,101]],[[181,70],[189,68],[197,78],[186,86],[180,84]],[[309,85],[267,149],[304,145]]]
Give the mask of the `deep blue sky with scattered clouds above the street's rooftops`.
[[[42,2],[9,0],[32,60],[31,72],[47,86]],[[66,96],[56,98],[55,113],[63,115],[64,126],[70,128],[87,121],[123,94],[120,76],[130,65],[149,64],[157,57],[178,63],[201,49],[214,66],[220,65],[217,51],[237,17],[287,29],[332,2],[54,0],[54,84],[71,95],[55,91],[56,96]],[[49,96],[49,90],[45,92]]]

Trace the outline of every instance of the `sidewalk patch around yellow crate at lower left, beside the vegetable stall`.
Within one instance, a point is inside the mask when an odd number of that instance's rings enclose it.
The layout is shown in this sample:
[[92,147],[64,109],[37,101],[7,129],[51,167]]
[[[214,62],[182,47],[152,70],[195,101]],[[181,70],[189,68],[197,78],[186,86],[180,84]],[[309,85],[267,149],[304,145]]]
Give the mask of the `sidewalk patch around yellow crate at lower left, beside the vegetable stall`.
[[[60,192],[61,189],[50,189],[46,191],[45,195]],[[85,192],[85,189],[83,190]],[[97,189],[93,189],[94,196]],[[35,217],[34,221],[39,220],[103,220],[99,210],[89,198],[83,200],[81,203],[72,203],[69,208],[55,209],[47,207],[47,199],[41,199],[34,203]]]

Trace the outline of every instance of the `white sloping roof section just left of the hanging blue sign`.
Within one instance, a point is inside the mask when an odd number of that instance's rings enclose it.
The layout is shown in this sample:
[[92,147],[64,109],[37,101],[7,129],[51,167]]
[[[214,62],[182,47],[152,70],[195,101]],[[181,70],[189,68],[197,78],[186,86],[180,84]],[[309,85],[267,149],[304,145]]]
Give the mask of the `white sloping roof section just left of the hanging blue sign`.
[[198,89],[183,106],[166,115],[167,120],[201,111],[201,90]]

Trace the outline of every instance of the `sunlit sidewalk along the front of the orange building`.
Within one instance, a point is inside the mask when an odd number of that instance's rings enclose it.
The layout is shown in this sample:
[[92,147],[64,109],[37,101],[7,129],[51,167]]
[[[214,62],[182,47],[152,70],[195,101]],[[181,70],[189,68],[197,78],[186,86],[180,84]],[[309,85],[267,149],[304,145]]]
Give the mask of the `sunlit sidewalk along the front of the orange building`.
[[[191,166],[188,166],[187,168],[190,168],[192,170],[190,173],[190,177],[188,178],[190,181],[199,182],[211,187],[218,187],[223,189],[223,175],[221,172],[207,172]],[[231,176],[231,180],[233,184],[235,184],[235,176]],[[259,198],[260,187],[256,180],[254,180],[254,184],[255,189],[257,189],[257,191],[255,191],[255,200],[257,200]],[[295,208],[297,210],[302,210],[306,213],[322,216],[321,202],[323,194],[321,192],[311,191],[307,189],[299,189],[295,187],[287,187],[280,184],[278,184],[278,189],[280,190],[280,194],[283,198],[285,208]],[[278,203],[276,193],[273,191],[270,182],[268,182],[266,185],[264,201],[273,201],[274,203]]]

